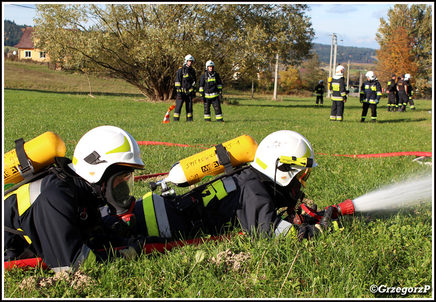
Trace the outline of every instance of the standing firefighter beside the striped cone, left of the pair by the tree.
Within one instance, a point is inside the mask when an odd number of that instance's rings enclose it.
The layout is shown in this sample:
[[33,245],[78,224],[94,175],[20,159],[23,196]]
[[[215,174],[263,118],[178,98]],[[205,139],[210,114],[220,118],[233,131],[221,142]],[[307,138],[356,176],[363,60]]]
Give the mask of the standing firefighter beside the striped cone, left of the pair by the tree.
[[186,121],[192,122],[192,100],[195,98],[194,85],[197,81],[195,70],[192,67],[194,57],[190,54],[185,56],[182,67],[177,70],[175,86],[177,91],[176,107],[174,108],[173,120],[179,121],[183,103],[186,109]]

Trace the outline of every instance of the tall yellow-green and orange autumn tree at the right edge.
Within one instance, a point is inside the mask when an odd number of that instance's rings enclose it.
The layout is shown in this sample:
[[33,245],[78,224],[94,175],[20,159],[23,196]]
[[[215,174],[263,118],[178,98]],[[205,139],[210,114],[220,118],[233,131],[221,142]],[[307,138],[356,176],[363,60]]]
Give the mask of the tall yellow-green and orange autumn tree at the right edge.
[[[404,31],[404,33],[396,33],[396,31]],[[398,35],[400,39],[395,40],[393,38],[394,34]],[[376,40],[380,44],[380,50],[377,52],[379,59],[383,57],[383,61],[379,61],[382,68],[388,64],[387,61],[389,60],[396,62],[397,58],[395,56],[397,54],[393,53],[392,48],[401,48],[401,46],[396,46],[396,43],[404,45],[404,35],[408,39],[408,55],[413,63],[401,72],[413,73],[413,71],[409,72],[409,70],[415,70],[413,74],[411,73],[412,79],[416,83],[417,90],[423,93],[431,89],[428,84],[428,80],[432,76],[431,6],[424,4],[413,4],[410,6],[396,4],[388,11],[388,20],[380,19],[380,27],[376,34]]]

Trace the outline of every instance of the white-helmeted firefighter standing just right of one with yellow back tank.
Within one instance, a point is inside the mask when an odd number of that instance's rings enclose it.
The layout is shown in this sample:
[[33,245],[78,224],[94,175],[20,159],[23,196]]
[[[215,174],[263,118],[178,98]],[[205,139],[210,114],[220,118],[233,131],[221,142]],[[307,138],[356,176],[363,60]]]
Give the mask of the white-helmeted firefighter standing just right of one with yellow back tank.
[[371,121],[375,123],[377,121],[377,104],[382,97],[382,86],[377,80],[373,71],[368,71],[365,74],[367,81],[362,85],[360,89],[360,103],[363,103],[361,123],[365,122],[367,118],[368,108],[371,107]]

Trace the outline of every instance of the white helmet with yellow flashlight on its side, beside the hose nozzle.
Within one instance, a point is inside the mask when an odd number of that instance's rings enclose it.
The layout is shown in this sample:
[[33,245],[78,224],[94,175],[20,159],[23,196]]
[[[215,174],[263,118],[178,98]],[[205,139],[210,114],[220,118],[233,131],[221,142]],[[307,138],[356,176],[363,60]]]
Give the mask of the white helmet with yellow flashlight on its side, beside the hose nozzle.
[[306,186],[311,168],[318,166],[310,142],[300,133],[280,130],[266,136],[259,144],[251,166],[280,186],[294,177]]

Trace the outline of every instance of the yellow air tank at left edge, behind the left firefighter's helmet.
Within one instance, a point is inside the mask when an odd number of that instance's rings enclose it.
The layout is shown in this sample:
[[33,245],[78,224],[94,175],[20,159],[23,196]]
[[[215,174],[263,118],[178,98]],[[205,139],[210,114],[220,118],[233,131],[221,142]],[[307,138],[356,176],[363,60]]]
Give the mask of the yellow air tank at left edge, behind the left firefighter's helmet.
[[[64,157],[66,148],[59,135],[47,131],[24,143],[24,152],[34,172],[37,172],[54,164],[54,157]],[[19,164],[16,149],[5,153],[3,166],[5,184],[17,184],[24,180],[18,171]]]

